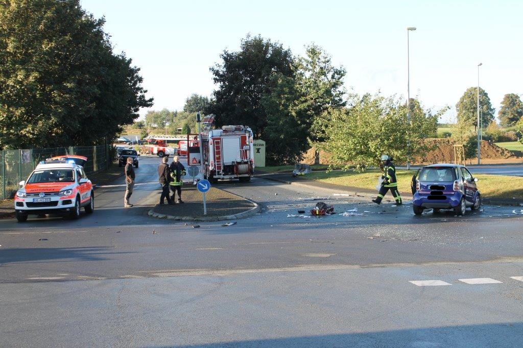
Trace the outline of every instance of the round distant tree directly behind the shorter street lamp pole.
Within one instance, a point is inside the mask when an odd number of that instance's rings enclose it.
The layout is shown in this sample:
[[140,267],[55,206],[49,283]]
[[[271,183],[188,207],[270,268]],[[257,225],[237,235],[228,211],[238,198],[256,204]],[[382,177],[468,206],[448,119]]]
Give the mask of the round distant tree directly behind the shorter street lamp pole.
[[[470,87],[456,104],[458,122],[465,122],[474,129],[477,127],[477,87]],[[480,87],[480,115],[484,125],[490,124],[494,120],[495,109],[492,107],[487,93]]]

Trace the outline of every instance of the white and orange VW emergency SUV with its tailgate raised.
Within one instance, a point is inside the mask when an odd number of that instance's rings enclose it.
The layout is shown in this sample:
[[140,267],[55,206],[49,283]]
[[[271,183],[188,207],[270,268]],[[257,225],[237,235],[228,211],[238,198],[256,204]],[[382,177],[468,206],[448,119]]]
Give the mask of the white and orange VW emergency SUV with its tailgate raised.
[[86,161],[84,156],[59,156],[40,162],[26,181],[20,181],[15,195],[17,220],[24,222],[30,214],[78,218],[82,207],[93,213],[93,184],[83,168]]

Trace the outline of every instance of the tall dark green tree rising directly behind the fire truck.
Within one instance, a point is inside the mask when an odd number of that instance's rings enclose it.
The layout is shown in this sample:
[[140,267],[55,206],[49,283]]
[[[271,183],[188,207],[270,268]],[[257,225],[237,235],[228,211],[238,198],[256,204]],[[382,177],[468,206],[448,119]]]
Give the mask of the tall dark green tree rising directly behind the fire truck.
[[210,68],[218,84],[214,99],[206,113],[214,113],[218,126],[242,124],[250,126],[255,137],[266,138],[268,114],[262,99],[275,88],[274,74],[293,77],[293,57],[278,42],[247,35],[240,51],[223,51],[222,62]]

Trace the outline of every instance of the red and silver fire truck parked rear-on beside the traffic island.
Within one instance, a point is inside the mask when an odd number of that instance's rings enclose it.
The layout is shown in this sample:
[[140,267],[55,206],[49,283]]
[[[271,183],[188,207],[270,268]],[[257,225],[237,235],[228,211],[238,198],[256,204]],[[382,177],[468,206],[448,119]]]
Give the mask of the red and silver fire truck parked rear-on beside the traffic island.
[[[219,179],[251,180],[254,172],[252,130],[243,125],[224,125],[221,129],[211,129],[214,118],[215,115],[208,115],[202,120],[204,177],[211,182]],[[190,149],[188,156],[192,155]]]

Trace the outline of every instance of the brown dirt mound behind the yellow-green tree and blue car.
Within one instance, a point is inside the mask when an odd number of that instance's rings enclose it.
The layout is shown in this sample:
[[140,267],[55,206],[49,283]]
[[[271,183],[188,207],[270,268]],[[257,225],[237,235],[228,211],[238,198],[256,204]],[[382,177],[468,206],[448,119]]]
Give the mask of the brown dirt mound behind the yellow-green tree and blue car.
[[[425,156],[413,158],[413,164],[432,164],[432,163],[454,163],[454,141],[452,139],[428,138],[425,143],[432,148]],[[302,163],[313,165],[316,149],[310,148],[305,154]],[[320,164],[331,164],[330,154],[320,152]],[[489,143],[486,140],[481,142],[481,158],[491,160],[517,159],[509,150],[499,147],[496,144]],[[467,158],[467,164],[475,162],[476,157]]]

